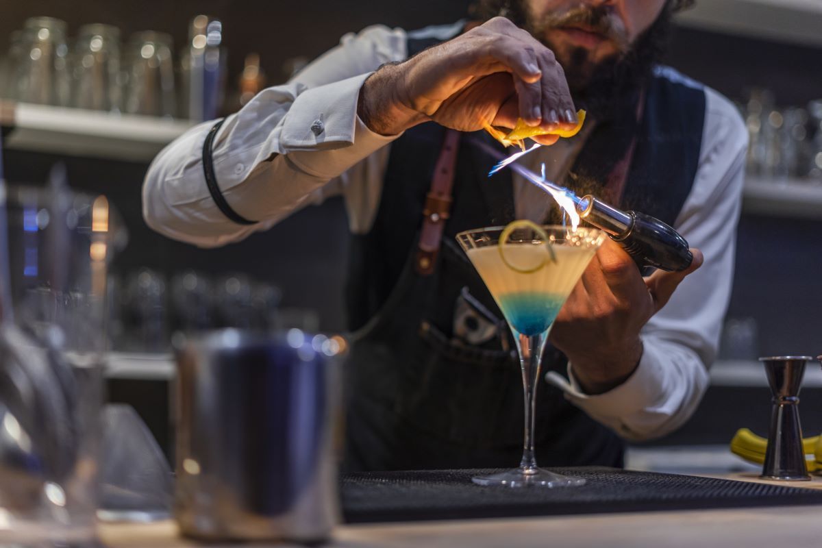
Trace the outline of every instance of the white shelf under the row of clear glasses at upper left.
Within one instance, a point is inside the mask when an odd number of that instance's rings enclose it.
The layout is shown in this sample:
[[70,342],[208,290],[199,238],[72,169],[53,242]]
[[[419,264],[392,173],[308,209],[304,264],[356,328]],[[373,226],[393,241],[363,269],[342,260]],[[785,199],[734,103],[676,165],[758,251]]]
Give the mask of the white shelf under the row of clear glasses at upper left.
[[5,143],[12,150],[148,162],[193,124],[136,114],[0,102],[0,125],[12,128]]

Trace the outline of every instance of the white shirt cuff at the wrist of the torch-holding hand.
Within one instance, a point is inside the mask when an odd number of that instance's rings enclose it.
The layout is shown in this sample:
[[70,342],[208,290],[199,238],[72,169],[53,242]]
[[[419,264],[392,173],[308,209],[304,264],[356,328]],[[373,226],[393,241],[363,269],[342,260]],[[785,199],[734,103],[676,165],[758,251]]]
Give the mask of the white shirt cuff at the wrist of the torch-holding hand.
[[[565,393],[565,397],[588,413],[593,419],[611,427],[626,438],[639,438],[644,435],[640,425],[642,417],[656,407],[665,392],[666,375],[659,366],[664,363],[660,350],[651,344],[645,344],[640,363],[634,372],[621,385],[603,394],[585,394],[577,382],[571,364],[568,364],[568,379],[554,371],[546,375],[548,383]],[[636,428],[640,426],[640,428]]]

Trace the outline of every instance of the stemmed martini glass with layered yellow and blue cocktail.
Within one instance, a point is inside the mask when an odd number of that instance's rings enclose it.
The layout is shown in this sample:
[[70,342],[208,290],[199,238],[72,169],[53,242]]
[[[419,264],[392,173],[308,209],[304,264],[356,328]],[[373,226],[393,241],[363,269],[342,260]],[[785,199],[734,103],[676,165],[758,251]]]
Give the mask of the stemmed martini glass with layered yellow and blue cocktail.
[[525,429],[520,467],[474,477],[474,483],[511,487],[584,484],[584,479],[537,466],[533,453],[534,407],[540,362],[553,321],[605,237],[594,228],[570,230],[523,222],[512,223],[509,228],[478,228],[457,234],[459,245],[483,278],[514,334],[524,389]]

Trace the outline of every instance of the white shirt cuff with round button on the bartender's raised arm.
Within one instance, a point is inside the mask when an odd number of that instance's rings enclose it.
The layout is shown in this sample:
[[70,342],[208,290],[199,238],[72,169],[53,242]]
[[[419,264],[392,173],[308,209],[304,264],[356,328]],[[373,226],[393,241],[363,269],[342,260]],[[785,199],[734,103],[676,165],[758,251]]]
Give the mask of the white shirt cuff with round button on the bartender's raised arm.
[[279,145],[302,171],[322,179],[337,177],[401,135],[375,133],[358,117],[359,92],[368,76],[320,85],[294,100]]

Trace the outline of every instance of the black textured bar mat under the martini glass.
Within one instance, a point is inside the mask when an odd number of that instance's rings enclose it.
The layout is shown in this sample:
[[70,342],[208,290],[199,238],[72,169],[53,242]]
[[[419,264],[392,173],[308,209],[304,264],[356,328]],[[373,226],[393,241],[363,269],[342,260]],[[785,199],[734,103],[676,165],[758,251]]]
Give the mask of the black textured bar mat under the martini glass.
[[342,480],[343,514],[348,523],[367,523],[822,504],[822,490],[794,487],[797,483],[774,486],[607,467],[552,470],[587,483],[516,489],[471,482],[496,470],[348,474]]

